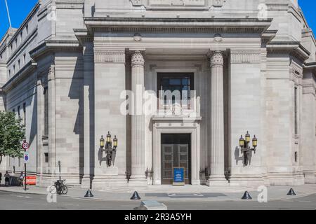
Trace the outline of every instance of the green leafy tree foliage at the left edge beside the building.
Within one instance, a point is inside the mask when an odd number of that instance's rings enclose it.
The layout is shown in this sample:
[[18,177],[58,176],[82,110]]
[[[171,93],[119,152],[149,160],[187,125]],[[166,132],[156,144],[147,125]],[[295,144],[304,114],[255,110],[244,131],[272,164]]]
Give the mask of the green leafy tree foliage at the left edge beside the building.
[[0,164],[2,157],[22,158],[22,141],[25,139],[25,126],[13,112],[0,111]]

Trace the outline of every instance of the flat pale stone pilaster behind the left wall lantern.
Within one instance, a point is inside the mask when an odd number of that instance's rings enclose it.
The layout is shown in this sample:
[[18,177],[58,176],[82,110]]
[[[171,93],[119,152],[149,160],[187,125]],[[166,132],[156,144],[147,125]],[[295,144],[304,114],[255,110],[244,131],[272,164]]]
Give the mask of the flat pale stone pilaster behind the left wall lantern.
[[[126,115],[121,113],[121,94],[126,90],[125,49],[106,48],[94,41],[94,176],[93,188],[126,186]],[[117,136],[119,146],[113,154],[112,167],[100,148],[100,137],[107,132]],[[91,162],[93,163],[93,162]]]

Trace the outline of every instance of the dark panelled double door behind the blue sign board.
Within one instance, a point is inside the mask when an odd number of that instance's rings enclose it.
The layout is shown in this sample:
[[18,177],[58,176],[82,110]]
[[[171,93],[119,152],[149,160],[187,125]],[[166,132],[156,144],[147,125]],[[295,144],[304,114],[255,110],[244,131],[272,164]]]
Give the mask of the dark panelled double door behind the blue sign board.
[[191,134],[162,134],[162,184],[173,183],[173,167],[185,168],[191,183]]

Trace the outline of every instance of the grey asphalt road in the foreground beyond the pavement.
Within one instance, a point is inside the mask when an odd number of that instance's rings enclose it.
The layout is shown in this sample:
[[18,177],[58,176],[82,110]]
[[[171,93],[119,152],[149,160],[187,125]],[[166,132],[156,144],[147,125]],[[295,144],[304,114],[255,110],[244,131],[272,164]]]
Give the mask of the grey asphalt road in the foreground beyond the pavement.
[[[315,210],[316,195],[295,198],[293,200],[271,201],[258,203],[254,201],[243,202],[162,202],[170,210]],[[131,210],[140,206],[140,201],[108,202],[91,199],[77,199],[58,196],[57,203],[48,203],[46,195],[9,193],[0,191],[0,210],[4,209],[32,209],[32,210]]]

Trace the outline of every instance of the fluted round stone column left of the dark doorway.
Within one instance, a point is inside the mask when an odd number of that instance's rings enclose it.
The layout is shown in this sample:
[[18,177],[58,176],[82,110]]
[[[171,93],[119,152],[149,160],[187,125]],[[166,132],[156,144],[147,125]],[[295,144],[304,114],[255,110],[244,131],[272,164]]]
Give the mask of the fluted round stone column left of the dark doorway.
[[142,53],[133,52],[131,56],[131,90],[134,94],[131,116],[131,183],[137,185],[147,184],[145,179],[145,116],[142,110],[145,90],[144,64],[145,59]]

